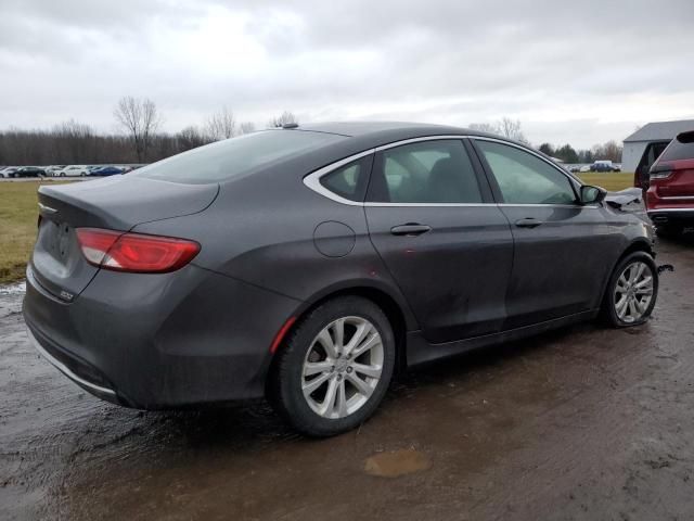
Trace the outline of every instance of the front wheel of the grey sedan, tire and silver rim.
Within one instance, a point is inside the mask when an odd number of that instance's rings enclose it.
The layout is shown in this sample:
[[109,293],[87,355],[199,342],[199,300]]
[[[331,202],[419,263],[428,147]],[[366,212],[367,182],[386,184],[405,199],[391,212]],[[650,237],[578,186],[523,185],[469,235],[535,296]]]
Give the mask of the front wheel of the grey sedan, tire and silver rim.
[[602,304],[604,321],[614,328],[639,326],[648,320],[658,296],[658,270],[653,257],[633,252],[615,268]]

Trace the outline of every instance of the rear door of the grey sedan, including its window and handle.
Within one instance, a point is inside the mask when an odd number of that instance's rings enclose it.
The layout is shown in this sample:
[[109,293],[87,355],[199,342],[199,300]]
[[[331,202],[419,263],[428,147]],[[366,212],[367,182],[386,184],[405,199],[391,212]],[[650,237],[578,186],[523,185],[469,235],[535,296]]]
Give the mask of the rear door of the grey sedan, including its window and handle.
[[467,147],[438,138],[380,150],[367,196],[371,240],[433,343],[505,319],[513,239]]

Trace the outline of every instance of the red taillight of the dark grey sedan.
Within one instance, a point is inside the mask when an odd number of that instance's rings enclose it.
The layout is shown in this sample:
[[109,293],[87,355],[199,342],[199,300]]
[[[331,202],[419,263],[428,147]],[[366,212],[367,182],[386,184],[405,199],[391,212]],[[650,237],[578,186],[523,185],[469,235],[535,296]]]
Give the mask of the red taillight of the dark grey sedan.
[[99,228],[78,228],[77,240],[82,255],[90,264],[115,271],[175,271],[190,263],[200,252],[200,244],[185,239]]

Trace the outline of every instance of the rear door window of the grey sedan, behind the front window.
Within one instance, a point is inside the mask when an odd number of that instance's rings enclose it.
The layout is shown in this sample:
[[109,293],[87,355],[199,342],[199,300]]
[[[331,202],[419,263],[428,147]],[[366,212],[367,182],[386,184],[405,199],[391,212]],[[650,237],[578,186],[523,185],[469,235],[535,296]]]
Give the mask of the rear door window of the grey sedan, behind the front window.
[[422,141],[381,153],[369,200],[386,203],[480,203],[481,193],[463,143]]

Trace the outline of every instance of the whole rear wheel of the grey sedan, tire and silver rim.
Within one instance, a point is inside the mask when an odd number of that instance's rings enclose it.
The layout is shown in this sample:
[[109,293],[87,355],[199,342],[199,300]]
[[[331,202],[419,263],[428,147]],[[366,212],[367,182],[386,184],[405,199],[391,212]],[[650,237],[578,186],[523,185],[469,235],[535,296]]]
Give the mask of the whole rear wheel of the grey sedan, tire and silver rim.
[[385,396],[395,351],[390,322],[373,302],[359,296],[327,301],[301,319],[278,353],[269,398],[306,435],[349,431]]

